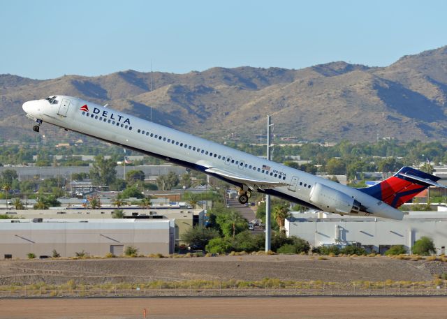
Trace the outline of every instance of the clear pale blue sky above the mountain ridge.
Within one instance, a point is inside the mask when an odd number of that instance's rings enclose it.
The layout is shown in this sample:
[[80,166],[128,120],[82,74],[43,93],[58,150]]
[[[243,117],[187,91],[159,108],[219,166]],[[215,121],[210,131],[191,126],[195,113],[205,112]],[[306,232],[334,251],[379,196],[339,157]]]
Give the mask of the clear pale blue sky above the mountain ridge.
[[0,74],[388,66],[447,45],[447,1],[0,1]]

